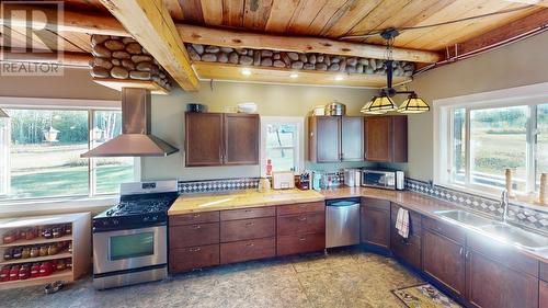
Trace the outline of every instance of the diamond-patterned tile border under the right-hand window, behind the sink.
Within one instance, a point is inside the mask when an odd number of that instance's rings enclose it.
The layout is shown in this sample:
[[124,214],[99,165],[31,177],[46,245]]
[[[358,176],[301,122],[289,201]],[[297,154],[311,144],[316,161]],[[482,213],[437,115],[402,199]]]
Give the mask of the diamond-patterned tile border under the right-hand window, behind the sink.
[[[504,212],[498,199],[431,185],[419,180],[406,179],[406,189],[434,198],[452,202],[496,218],[502,217]],[[507,214],[509,219],[516,224],[548,232],[548,213],[511,203]]]

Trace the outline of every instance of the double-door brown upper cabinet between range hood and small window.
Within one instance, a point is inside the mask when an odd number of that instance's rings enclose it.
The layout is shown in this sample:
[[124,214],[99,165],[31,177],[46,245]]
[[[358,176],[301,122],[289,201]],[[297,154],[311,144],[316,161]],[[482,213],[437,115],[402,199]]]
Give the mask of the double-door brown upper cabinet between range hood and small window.
[[258,114],[185,113],[186,167],[259,163]]

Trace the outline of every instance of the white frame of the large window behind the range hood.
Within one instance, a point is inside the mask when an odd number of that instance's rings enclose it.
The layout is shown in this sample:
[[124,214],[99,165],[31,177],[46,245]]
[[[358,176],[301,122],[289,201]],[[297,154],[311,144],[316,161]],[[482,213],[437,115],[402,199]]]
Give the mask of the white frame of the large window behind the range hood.
[[[87,111],[88,112],[88,148],[92,146],[92,132],[94,124],[94,113],[98,111],[121,111],[122,102],[114,100],[77,100],[77,99],[42,99],[42,98],[13,98],[0,96],[0,109],[16,110],[58,110],[58,111]],[[134,158],[134,181],[139,181],[140,158]],[[50,197],[30,197],[30,198],[0,198],[1,204],[13,203],[44,203],[61,201],[81,201],[81,199],[109,199],[115,197],[117,193],[96,193],[95,187],[95,160],[89,159],[88,163],[88,194],[87,195],[67,195]],[[10,179],[11,181],[11,179]]]

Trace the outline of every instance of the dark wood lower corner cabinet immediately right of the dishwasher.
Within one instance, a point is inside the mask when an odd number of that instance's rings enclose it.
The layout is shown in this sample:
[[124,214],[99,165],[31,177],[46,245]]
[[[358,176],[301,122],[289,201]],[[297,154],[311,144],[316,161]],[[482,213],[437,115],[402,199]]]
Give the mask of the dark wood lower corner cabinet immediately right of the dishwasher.
[[359,225],[363,243],[390,248],[390,202],[362,198]]

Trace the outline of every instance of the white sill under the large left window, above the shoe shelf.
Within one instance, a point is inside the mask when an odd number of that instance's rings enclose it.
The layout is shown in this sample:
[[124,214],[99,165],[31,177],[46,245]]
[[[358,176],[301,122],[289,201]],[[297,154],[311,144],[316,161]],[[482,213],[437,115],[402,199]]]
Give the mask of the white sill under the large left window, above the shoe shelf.
[[0,218],[76,212],[91,212],[92,214],[95,214],[115,205],[117,202],[117,195],[93,198],[2,201],[0,202]]

